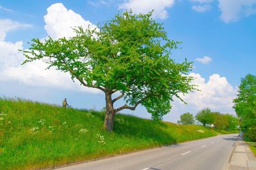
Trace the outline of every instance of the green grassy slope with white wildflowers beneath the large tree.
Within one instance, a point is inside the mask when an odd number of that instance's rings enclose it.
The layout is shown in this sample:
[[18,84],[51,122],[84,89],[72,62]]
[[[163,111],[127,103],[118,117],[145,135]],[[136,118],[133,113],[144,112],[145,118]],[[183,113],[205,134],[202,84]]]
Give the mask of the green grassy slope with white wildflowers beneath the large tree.
[[0,99],[0,113],[0,169],[52,167],[218,133],[199,125],[161,127],[121,114],[108,133],[102,130],[104,113],[20,100]]

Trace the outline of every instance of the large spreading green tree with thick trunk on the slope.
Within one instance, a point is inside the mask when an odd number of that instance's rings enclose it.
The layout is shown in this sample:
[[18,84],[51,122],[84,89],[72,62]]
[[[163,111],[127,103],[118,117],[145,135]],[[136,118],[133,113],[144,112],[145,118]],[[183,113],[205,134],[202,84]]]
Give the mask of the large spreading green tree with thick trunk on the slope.
[[[23,64],[44,60],[48,69],[68,72],[84,87],[102,90],[106,99],[103,127],[109,132],[118,111],[135,110],[139,104],[154,120],[161,120],[170,111],[174,96],[180,99],[180,93],[194,90],[193,78],[188,76],[192,63],[170,58],[179,42],[168,39],[163,24],[151,15],[125,11],[99,29],[74,29],[72,38],[32,39],[29,50],[23,52]],[[119,99],[125,104],[114,108]]]

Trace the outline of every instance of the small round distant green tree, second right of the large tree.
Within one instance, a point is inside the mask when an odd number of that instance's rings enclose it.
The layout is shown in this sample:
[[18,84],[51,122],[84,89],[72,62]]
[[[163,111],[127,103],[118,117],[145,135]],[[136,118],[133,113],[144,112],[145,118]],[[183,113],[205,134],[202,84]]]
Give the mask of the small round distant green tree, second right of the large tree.
[[196,120],[201,122],[204,126],[214,122],[214,115],[211,113],[210,108],[205,108],[196,113]]

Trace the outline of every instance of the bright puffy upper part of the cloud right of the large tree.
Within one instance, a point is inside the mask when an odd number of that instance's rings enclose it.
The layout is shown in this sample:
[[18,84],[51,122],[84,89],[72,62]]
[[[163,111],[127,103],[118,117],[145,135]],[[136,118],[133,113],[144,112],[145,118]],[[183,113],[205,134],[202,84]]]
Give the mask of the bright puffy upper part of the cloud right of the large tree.
[[200,74],[190,73],[195,78],[193,84],[200,91],[195,91],[183,97],[184,101],[201,110],[209,107],[213,110],[232,111],[232,103],[236,97],[236,90],[227,81],[227,78],[219,74],[212,74],[209,81],[205,82]]

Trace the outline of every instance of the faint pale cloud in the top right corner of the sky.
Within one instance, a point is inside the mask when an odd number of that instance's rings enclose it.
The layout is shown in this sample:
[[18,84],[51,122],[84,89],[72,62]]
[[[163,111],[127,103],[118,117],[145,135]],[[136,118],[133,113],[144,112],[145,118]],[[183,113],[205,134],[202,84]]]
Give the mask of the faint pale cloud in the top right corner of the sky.
[[236,22],[256,13],[256,0],[219,0],[219,8],[223,22]]

